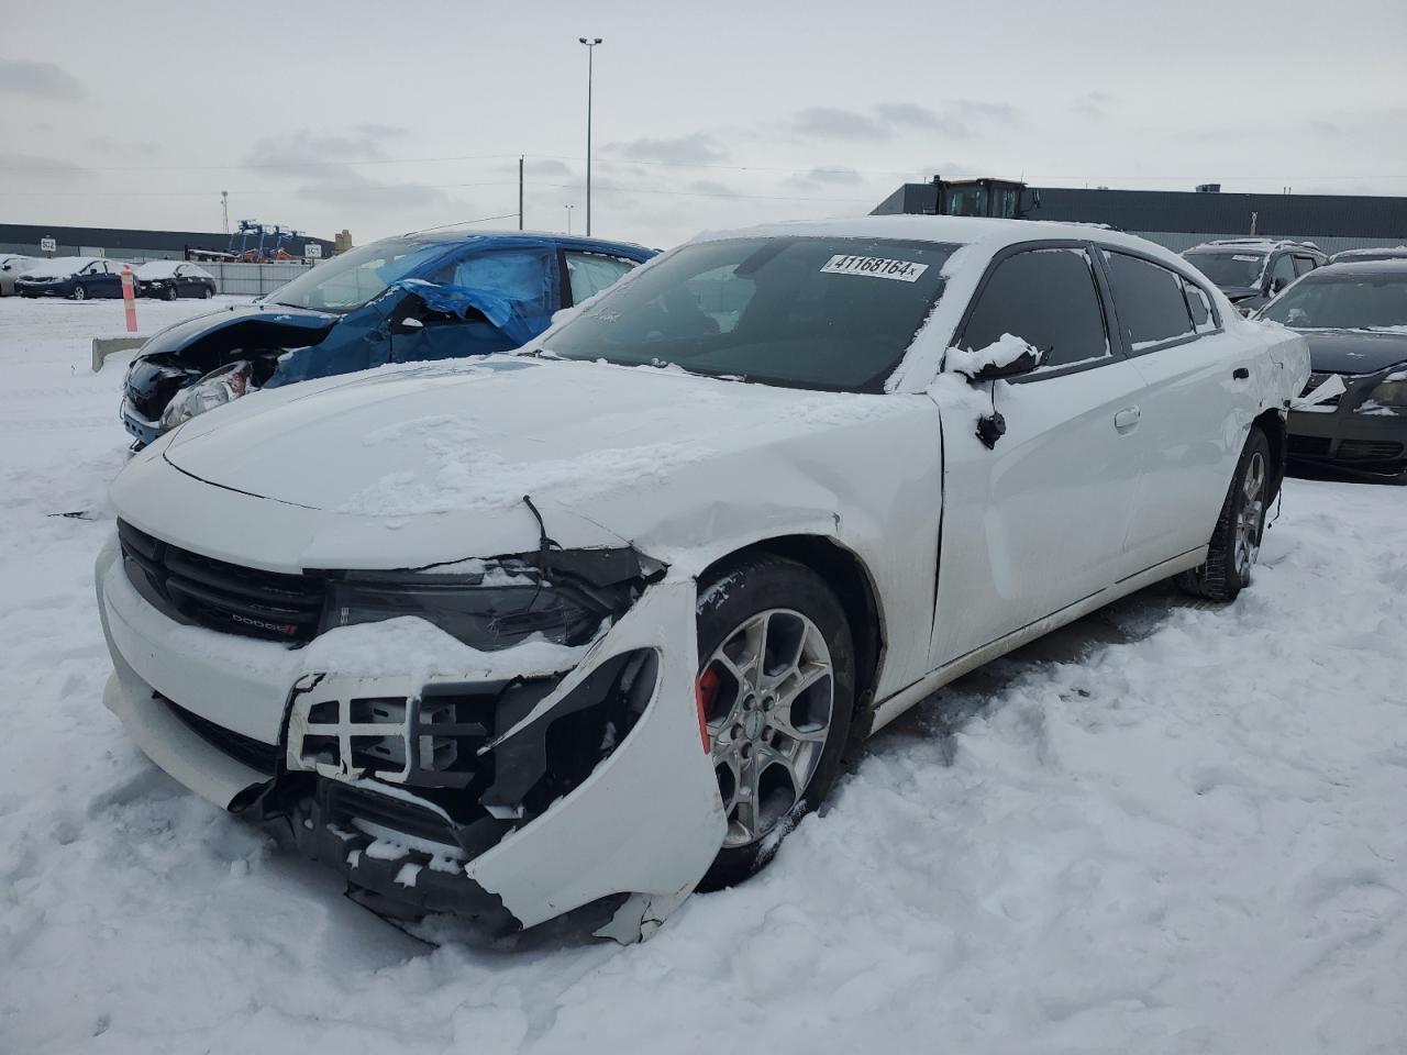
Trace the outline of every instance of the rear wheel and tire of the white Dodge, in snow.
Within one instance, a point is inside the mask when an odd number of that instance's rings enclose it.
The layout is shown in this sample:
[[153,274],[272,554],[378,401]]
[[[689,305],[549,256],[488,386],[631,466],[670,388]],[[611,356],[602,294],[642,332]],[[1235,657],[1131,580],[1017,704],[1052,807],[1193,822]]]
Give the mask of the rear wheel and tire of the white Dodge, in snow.
[[1261,551],[1269,494],[1271,442],[1259,428],[1252,428],[1211,532],[1207,560],[1178,575],[1182,589],[1211,601],[1235,601],[1237,594],[1251,585],[1251,567]]

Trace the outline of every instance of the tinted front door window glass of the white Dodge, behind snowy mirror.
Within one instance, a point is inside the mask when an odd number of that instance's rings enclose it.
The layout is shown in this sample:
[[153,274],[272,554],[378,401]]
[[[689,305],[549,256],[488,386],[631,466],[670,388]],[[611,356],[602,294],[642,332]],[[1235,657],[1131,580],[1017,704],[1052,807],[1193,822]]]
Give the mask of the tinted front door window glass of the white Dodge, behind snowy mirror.
[[960,343],[978,350],[1003,333],[1044,352],[1045,367],[1107,356],[1104,312],[1089,255],[1083,249],[1029,249],[1002,260],[978,294]]

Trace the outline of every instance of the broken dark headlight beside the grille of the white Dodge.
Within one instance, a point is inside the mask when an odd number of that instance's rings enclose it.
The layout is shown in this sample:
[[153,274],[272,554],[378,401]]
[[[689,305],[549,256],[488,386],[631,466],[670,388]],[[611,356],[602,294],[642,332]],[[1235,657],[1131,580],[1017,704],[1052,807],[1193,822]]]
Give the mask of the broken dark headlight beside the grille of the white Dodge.
[[584,644],[611,606],[536,570],[494,568],[483,575],[355,575],[331,584],[324,630],[418,616],[471,648],[495,651],[535,634],[554,644]]

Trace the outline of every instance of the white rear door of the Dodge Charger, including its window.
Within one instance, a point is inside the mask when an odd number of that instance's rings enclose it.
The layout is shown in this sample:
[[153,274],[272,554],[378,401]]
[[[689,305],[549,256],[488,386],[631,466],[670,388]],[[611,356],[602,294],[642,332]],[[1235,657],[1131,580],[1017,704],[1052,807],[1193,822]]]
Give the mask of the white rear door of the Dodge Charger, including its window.
[[1142,482],[1127,543],[1141,571],[1210,540],[1259,407],[1254,371],[1262,363],[1223,328],[1190,274],[1124,249],[1104,249],[1100,262],[1119,339],[1144,381]]

